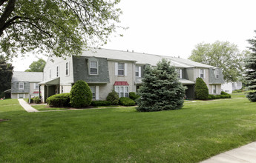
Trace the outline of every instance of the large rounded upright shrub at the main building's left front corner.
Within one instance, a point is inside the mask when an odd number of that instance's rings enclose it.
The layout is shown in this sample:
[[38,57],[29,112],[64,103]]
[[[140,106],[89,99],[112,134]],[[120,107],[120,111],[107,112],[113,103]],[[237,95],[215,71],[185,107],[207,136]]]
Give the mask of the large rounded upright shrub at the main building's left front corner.
[[72,107],[86,107],[91,104],[93,94],[85,81],[77,81],[70,90],[70,104]]

